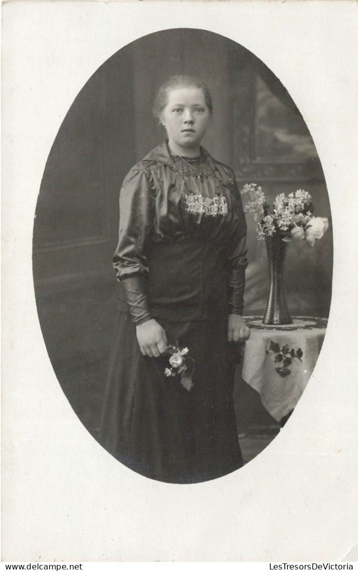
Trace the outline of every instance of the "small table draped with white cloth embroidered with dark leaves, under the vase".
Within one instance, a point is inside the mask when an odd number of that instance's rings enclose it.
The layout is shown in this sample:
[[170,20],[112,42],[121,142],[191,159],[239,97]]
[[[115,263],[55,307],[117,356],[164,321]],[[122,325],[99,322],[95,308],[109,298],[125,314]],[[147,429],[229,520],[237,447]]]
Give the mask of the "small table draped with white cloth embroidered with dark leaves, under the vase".
[[245,344],[242,379],[260,394],[262,404],[277,422],[300,400],[327,327],[323,317],[292,319],[290,325],[264,325],[262,317],[245,317],[250,337]]

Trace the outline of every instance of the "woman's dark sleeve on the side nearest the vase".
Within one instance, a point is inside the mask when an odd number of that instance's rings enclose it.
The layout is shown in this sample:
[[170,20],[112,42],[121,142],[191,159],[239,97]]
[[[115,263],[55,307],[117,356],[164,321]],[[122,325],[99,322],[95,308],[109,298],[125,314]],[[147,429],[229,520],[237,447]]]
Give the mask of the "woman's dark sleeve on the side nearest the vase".
[[234,203],[236,205],[236,224],[232,237],[226,264],[228,268],[228,304],[229,313],[242,315],[244,311],[245,270],[248,265],[246,258],[246,219],[242,207],[241,195],[237,187],[236,179],[231,171],[231,179],[234,190]]

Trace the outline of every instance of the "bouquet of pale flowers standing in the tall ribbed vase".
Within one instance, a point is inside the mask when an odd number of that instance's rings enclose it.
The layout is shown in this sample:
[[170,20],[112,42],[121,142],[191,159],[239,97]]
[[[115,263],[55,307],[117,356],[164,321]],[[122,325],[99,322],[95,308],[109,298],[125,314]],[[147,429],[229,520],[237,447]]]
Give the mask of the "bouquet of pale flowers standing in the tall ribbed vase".
[[312,197],[309,192],[301,188],[288,196],[284,193],[278,194],[272,207],[267,203],[262,188],[257,184],[245,184],[241,194],[249,198],[244,211],[250,212],[258,222],[259,240],[279,232],[284,242],[294,238],[306,240],[313,246],[315,240],[322,238],[327,231],[328,219],[313,216]]

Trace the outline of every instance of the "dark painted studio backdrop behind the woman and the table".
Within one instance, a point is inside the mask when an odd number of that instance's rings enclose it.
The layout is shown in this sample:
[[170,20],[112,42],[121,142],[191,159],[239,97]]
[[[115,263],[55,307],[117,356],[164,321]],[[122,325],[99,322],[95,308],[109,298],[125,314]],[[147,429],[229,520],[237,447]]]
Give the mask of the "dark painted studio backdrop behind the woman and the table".
[[[214,102],[203,145],[229,164],[239,187],[260,183],[272,202],[304,188],[315,214],[331,221],[315,145],[291,97],[252,53],[204,30],[165,30],[140,38],[104,63],[63,120],[43,174],[34,223],[33,270],[39,320],[59,382],[96,437],[106,363],[114,336],[118,195],[126,172],[164,138],[152,118],[154,95],[173,74],[201,77]],[[303,81],[304,86],[304,81]],[[304,89],[304,88],[303,88]],[[245,315],[262,315],[268,293],[265,245],[248,220]],[[328,316],[332,231],[311,248],[289,245],[291,315]],[[240,431],[275,421],[237,375]]]

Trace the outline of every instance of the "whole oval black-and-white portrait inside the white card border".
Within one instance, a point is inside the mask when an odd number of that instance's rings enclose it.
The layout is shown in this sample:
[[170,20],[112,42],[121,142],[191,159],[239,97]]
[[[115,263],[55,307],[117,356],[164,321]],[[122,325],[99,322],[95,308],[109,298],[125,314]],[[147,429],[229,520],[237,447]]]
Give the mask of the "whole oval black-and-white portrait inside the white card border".
[[174,484],[256,456],[319,356],[331,226],[308,127],[249,50],[170,29],[109,58],[51,148],[33,242],[47,351],[90,433]]

